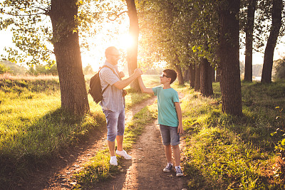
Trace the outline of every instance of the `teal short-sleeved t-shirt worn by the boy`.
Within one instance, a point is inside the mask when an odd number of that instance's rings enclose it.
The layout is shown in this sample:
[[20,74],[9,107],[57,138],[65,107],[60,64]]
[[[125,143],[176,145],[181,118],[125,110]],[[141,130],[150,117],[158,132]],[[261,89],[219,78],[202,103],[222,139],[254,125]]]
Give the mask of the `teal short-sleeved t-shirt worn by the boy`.
[[162,86],[152,88],[157,96],[158,123],[170,127],[178,127],[178,117],[174,102],[179,102],[178,93],[173,88],[163,89]]

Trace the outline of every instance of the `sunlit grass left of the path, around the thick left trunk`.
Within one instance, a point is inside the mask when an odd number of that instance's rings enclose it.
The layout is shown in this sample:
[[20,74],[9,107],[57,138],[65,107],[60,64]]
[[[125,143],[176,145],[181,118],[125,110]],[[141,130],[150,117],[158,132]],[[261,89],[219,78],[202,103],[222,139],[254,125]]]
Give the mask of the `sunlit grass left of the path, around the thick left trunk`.
[[[29,171],[48,165],[65,149],[105,125],[101,107],[93,102],[90,95],[91,115],[76,117],[61,110],[58,78],[2,76],[0,86],[2,188],[13,188],[20,179],[25,179]],[[88,79],[86,86],[88,88]],[[150,97],[129,89],[128,93],[125,98],[128,107]]]

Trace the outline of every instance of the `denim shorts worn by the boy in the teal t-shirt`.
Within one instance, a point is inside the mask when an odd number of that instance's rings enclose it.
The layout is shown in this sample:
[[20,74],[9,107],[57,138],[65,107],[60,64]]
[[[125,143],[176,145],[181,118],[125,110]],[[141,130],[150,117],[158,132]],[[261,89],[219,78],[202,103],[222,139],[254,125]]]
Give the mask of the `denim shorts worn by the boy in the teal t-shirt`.
[[170,127],[167,125],[160,125],[160,134],[163,145],[172,146],[180,144],[180,135],[177,132],[178,127]]

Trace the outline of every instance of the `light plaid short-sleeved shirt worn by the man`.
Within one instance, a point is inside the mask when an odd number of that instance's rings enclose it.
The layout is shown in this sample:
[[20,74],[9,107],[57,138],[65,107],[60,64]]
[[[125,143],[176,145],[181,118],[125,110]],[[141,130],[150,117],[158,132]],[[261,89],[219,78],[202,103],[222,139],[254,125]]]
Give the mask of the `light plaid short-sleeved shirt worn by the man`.
[[[112,68],[115,73],[119,73],[117,65],[114,66],[107,61],[105,61],[105,65]],[[120,112],[125,109],[125,98],[123,97],[123,90],[119,90],[113,85],[118,82],[120,78],[118,78],[118,75],[115,75],[110,68],[102,68],[99,73],[102,90],[109,85],[103,93],[103,100],[100,102],[100,106],[103,110]]]

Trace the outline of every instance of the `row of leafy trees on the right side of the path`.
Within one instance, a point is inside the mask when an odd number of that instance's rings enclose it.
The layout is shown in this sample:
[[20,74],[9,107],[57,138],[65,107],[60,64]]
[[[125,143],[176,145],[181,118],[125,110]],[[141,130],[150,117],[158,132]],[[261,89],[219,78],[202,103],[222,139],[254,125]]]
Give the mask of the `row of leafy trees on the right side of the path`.
[[[190,68],[190,85],[212,95],[213,68],[222,92],[222,110],[241,115],[239,34],[245,35],[244,80],[252,81],[252,53],[264,45],[261,82],[271,83],[274,48],[283,35],[281,0],[140,1],[142,48],[152,60],[163,58],[182,75]],[[255,14],[255,13],[258,14]],[[266,31],[269,31],[267,33]],[[147,41],[152,38],[152,41]],[[257,41],[254,46],[254,39]],[[183,84],[183,78],[178,77]]]

